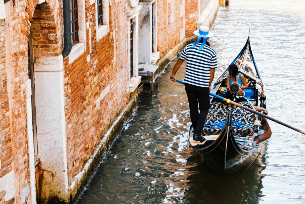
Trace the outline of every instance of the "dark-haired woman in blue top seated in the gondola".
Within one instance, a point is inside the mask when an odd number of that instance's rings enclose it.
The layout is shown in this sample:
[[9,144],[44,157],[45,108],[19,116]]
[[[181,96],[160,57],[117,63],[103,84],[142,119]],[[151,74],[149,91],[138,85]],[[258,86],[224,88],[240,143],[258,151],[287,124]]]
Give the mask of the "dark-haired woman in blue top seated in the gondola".
[[238,67],[235,64],[229,65],[229,74],[227,75],[227,90],[230,90],[230,86],[232,83],[239,84],[239,95],[244,96],[245,92],[243,89],[247,88],[247,83],[244,75],[239,73]]

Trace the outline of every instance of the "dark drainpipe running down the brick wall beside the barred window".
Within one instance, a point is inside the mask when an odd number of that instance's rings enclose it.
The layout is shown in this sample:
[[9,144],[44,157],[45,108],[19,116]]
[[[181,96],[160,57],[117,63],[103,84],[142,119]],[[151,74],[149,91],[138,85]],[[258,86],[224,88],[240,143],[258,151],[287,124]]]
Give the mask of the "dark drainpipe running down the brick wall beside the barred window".
[[64,49],[61,51],[61,54],[65,58],[70,54],[72,48],[70,0],[63,0],[63,37]]

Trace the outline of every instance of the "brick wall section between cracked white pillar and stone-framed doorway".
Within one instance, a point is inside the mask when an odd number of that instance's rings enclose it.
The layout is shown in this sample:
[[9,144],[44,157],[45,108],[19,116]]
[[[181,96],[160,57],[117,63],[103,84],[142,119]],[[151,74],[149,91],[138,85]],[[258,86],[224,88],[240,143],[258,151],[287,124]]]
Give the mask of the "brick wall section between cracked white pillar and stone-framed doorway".
[[[68,65],[65,59],[65,115],[70,182],[81,171],[110,124],[129,98],[126,1],[109,2],[109,32],[96,40],[95,5],[86,1],[86,51]],[[113,35],[115,32],[115,36]],[[114,37],[116,38],[114,45]],[[116,46],[116,53],[114,53]],[[90,55],[90,61],[87,57]],[[115,57],[116,56],[116,57]],[[110,91],[99,100],[107,86]]]

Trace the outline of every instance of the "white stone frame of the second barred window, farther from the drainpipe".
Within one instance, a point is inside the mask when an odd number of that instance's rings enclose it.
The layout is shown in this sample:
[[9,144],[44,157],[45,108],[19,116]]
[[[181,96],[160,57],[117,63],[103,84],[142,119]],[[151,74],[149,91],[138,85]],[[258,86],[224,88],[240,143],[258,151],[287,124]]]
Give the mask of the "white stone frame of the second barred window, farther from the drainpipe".
[[[93,1],[91,1],[93,3]],[[99,41],[109,32],[109,0],[102,0],[102,25],[98,24],[98,0],[95,0],[96,40]]]

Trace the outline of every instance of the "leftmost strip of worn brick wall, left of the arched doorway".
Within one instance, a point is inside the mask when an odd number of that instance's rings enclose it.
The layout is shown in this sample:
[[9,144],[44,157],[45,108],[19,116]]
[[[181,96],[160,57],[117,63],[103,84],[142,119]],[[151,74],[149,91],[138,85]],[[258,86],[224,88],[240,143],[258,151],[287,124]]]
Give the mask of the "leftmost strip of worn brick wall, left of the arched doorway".
[[0,20],[0,179],[5,181],[0,187],[6,188],[0,192],[1,203],[31,203],[24,82],[28,79],[29,13],[34,4],[37,1],[16,1],[13,6],[10,1],[5,4],[6,19]]

